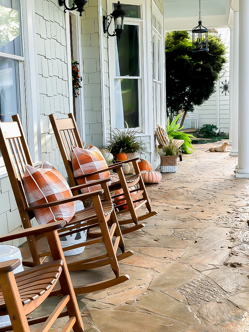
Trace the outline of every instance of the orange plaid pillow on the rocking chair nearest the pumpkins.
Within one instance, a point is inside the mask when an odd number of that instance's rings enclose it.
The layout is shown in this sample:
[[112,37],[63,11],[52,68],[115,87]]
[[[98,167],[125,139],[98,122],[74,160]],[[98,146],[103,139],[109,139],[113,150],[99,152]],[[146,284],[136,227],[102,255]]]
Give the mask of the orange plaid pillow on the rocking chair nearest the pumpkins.
[[[72,165],[74,176],[82,176],[92,172],[101,171],[108,168],[105,158],[100,150],[93,145],[90,145],[87,149],[81,149],[76,146],[72,146]],[[89,183],[91,181],[103,180],[110,178],[109,171],[102,172],[96,175],[86,176],[85,178],[78,179],[78,185]],[[111,182],[108,182],[109,186]],[[94,190],[101,189],[101,185],[96,185],[81,190],[82,193],[89,193]]]

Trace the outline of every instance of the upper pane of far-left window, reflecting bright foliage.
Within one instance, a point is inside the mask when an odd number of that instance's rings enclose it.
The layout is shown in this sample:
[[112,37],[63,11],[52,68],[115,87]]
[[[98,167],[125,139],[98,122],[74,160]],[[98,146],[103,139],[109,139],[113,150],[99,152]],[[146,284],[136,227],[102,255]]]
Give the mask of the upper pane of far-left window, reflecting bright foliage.
[[0,0],[0,51],[23,55],[20,0]]

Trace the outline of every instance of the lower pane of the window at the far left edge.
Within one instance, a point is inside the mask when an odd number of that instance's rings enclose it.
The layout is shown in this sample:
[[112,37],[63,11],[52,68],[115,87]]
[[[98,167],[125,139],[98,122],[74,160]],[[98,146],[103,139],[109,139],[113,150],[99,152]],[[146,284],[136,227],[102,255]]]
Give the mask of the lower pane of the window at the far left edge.
[[0,115],[1,121],[12,121],[20,113],[19,63],[0,58]]

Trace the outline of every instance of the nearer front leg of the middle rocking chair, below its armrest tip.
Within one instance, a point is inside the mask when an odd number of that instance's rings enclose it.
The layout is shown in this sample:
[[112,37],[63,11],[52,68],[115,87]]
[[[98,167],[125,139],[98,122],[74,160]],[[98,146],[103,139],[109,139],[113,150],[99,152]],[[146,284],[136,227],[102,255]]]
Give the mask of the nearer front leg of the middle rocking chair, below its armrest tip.
[[118,264],[116,253],[114,252],[112,239],[110,237],[110,232],[109,232],[108,225],[107,225],[107,222],[105,219],[105,214],[103,212],[100,197],[95,196],[92,198],[92,200],[93,200],[93,205],[94,205],[94,208],[95,208],[95,211],[97,214],[97,218],[99,220],[100,230],[101,230],[101,233],[103,236],[103,240],[105,243],[110,265],[111,265],[111,268],[112,268],[116,278],[118,278],[120,276],[119,264]]

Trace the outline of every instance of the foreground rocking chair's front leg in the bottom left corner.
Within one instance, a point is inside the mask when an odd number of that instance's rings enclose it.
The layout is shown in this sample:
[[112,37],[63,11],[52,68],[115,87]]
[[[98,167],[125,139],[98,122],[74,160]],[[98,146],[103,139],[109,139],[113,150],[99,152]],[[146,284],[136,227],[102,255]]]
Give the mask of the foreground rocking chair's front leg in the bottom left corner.
[[13,331],[30,332],[13,272],[0,274],[0,284]]

